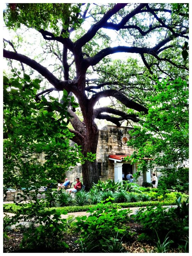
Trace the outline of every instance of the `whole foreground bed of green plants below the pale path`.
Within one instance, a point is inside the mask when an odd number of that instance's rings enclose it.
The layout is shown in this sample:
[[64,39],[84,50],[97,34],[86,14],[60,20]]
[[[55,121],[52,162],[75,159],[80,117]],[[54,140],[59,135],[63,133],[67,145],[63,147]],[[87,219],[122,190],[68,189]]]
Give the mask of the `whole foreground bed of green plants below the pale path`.
[[[35,209],[39,217],[33,220],[33,223],[41,222],[42,224],[36,227],[29,226],[25,230],[23,228],[21,247],[15,252],[46,252],[46,250],[49,252],[188,251],[188,201],[181,203],[181,197],[179,197],[175,202],[177,207],[166,209],[160,205],[148,206],[147,210],[141,208],[134,215],[130,209],[123,210],[120,204],[113,205],[111,201],[114,201],[114,198],[89,207],[88,217],[82,216],[76,219],[70,217],[68,220],[61,218],[61,213],[66,213],[61,210],[64,208],[52,209],[48,213],[43,207],[39,212],[37,204]],[[28,208],[28,211],[25,209],[24,212],[31,217],[34,215],[31,213],[32,208]],[[21,210],[18,214],[24,212]],[[50,218],[50,215],[53,218]],[[11,228],[9,227],[12,223],[13,220],[10,222],[9,217],[5,218],[4,230],[10,237]],[[53,232],[55,234],[53,243],[49,243],[48,240],[53,239],[53,236],[49,237],[49,234]],[[178,232],[180,234],[175,238],[174,234]],[[9,244],[9,240],[7,241]],[[109,243],[110,247],[108,247]],[[138,245],[141,248],[138,248]]]

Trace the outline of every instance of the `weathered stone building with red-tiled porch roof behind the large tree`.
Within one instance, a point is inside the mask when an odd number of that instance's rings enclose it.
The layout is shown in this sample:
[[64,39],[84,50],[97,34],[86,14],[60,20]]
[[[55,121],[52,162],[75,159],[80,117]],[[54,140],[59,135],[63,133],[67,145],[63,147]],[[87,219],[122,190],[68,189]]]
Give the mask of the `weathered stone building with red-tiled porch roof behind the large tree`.
[[[133,153],[133,150],[127,146],[131,129],[133,128],[107,125],[99,130],[97,164],[100,180],[122,181],[126,180],[129,171],[131,174],[136,173],[137,164],[131,165],[130,162],[124,160],[127,155]],[[82,180],[81,165],[67,171],[66,177],[72,181],[75,181],[76,177]],[[143,182],[151,182],[151,171],[141,174],[135,182],[139,185],[142,185]]]

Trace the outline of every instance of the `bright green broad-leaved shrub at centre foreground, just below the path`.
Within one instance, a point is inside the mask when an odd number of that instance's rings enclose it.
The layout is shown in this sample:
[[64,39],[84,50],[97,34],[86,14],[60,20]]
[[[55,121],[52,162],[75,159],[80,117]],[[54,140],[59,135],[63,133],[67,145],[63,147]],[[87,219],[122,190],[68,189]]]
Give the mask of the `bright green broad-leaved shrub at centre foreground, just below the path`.
[[[108,201],[108,199],[106,200]],[[106,239],[113,239],[117,235],[117,239],[121,239],[123,235],[129,234],[124,228],[124,224],[130,220],[128,214],[132,211],[118,210],[111,208],[111,202],[101,202],[92,207],[88,211],[90,215],[77,217],[74,223],[77,231],[80,233],[80,241],[83,248],[92,242],[92,247],[97,247],[97,252],[101,252],[108,248]],[[90,252],[95,252],[96,249]]]

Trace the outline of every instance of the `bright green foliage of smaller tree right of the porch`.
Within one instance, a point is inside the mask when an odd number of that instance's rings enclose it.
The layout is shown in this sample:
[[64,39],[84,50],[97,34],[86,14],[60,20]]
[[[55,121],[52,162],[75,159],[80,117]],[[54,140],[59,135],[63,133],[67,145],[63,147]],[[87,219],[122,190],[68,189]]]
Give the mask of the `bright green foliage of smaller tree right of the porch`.
[[[148,98],[148,114],[140,115],[141,126],[131,132],[128,141],[135,151],[132,162],[140,162],[145,171],[156,166],[183,165],[188,161],[188,85],[181,78],[163,79],[154,86],[155,95]],[[152,158],[147,162],[144,158]]]

